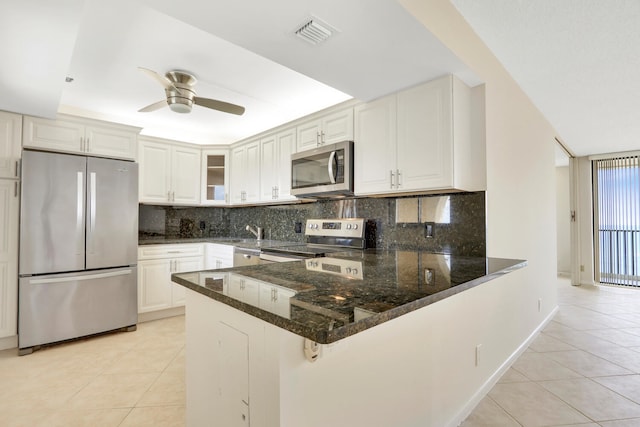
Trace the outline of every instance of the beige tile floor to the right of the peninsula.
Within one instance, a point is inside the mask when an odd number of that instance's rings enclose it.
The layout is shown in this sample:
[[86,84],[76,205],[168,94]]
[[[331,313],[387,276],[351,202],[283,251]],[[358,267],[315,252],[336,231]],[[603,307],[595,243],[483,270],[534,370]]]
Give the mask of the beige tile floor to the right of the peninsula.
[[559,279],[558,305],[462,427],[640,427],[640,289]]

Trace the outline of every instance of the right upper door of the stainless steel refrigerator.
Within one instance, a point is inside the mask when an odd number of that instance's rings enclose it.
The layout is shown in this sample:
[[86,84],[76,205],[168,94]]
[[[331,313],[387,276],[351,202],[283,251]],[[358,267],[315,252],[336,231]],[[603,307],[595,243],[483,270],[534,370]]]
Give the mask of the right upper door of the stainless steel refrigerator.
[[137,263],[138,164],[87,159],[87,269]]

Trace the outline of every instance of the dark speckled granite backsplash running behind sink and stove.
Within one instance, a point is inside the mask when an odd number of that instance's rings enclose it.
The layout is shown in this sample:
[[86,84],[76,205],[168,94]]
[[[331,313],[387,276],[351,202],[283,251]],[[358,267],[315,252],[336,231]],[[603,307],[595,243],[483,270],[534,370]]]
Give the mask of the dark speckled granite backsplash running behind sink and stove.
[[[406,202],[418,203],[431,197],[447,198],[446,219],[433,222],[432,237],[425,237],[426,226],[419,216],[416,222],[396,221],[398,203],[403,203],[404,206]],[[160,236],[252,238],[253,235],[245,230],[247,225],[252,225],[264,228],[265,239],[302,242],[304,235],[296,233],[296,223],[304,226],[307,218],[359,217],[375,222],[375,244],[378,248],[486,256],[483,191],[403,198],[318,200],[274,206],[228,208],[140,205],[139,209],[140,240]]]

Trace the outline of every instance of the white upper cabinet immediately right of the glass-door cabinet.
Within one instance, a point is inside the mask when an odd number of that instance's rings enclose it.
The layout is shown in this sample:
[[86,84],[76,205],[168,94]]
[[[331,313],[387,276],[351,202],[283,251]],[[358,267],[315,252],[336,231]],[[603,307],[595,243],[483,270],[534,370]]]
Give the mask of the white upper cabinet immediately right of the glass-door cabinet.
[[260,201],[260,140],[231,149],[232,204]]

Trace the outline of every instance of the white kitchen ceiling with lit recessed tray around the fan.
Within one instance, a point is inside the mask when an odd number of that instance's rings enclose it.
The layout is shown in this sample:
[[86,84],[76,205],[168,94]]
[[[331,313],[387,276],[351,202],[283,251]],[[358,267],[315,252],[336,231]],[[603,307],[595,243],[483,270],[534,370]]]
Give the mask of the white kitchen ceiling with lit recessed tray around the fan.
[[[309,17],[336,35],[317,46],[295,37]],[[20,0],[3,8],[0,39],[0,110],[79,114],[201,144],[446,73],[480,83],[395,0]],[[246,113],[138,113],[164,99],[139,66],[189,71],[198,96]]]

